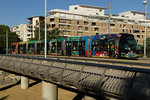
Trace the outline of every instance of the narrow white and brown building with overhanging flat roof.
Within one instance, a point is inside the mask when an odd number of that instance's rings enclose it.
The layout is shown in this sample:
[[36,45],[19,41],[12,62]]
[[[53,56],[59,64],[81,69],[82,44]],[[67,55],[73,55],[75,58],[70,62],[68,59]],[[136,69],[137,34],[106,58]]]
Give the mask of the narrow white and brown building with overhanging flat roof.
[[40,24],[39,22],[44,21],[45,17],[44,16],[34,16],[34,17],[30,17],[27,18],[29,20],[29,28],[30,30],[32,30],[32,38],[35,37],[35,27],[39,27]]

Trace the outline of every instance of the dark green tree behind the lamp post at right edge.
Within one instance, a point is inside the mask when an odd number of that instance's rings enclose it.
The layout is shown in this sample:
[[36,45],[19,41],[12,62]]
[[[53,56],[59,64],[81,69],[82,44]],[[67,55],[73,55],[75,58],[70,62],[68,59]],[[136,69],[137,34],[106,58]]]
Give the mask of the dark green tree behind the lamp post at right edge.
[[[144,54],[144,43],[141,46],[141,53]],[[146,56],[150,57],[150,38],[146,39]]]

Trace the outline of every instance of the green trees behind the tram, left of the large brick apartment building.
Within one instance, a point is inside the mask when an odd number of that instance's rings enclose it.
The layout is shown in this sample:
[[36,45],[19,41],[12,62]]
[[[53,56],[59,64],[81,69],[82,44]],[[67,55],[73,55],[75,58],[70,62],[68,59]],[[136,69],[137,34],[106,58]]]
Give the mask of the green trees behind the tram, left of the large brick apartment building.
[[[47,25],[47,29],[49,29],[50,25]],[[43,40],[45,38],[45,22],[40,22],[40,40]],[[51,31],[47,30],[47,38],[48,39],[55,39],[60,38],[61,31],[58,28],[54,28]],[[39,40],[39,27],[35,27],[35,38],[32,38],[30,40]]]

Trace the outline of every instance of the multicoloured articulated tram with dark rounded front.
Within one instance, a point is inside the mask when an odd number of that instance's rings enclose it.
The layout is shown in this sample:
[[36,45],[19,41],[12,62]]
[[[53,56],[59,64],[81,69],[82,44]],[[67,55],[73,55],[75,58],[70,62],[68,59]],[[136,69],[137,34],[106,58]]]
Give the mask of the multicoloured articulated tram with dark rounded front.
[[[11,43],[12,54],[44,54],[44,41]],[[47,41],[47,54],[111,58],[137,58],[140,49],[128,33],[58,38]]]

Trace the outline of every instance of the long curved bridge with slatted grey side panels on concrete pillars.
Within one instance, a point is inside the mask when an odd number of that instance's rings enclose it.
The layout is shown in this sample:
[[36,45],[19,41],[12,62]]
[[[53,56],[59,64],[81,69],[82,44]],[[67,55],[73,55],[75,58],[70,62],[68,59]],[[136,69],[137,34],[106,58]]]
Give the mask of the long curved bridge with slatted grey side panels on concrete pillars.
[[57,100],[57,86],[77,92],[74,100],[85,95],[90,98],[86,100],[150,99],[150,69],[131,67],[150,64],[121,66],[75,60],[0,55],[0,70],[20,75],[24,89],[28,88],[28,78],[42,80],[42,100]]

